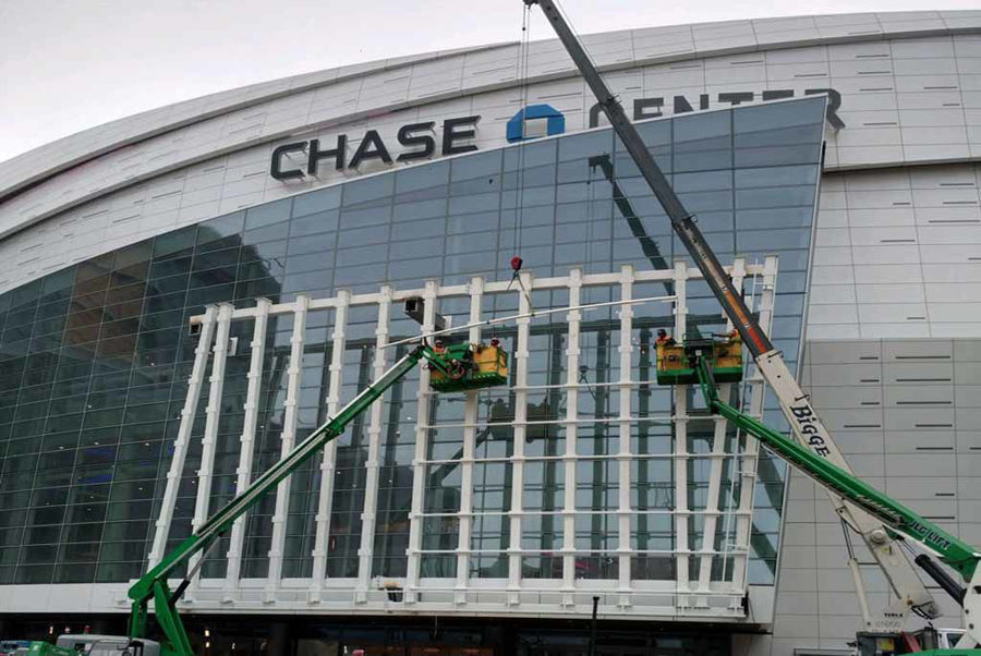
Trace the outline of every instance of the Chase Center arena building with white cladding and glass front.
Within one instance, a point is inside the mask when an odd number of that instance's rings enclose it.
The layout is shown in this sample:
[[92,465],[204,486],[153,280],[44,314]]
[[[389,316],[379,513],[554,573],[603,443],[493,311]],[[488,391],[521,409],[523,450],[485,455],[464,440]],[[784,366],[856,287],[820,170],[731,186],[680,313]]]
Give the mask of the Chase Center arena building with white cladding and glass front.
[[[981,11],[584,41],[857,473],[981,544]],[[557,41],[504,44],[0,163],[2,637],[124,631],[129,582],[390,364],[422,296],[525,316],[471,331],[511,388],[393,388],[205,562],[202,648],[580,654],[595,598],[597,654],[848,653],[826,497],[652,379],[652,332],[726,324],[600,113]]]

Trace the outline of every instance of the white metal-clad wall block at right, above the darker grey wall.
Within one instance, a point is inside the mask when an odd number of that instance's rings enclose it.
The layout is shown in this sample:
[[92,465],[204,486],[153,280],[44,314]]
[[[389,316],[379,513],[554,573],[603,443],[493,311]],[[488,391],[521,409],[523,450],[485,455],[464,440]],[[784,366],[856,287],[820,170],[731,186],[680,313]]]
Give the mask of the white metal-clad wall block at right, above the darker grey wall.
[[822,182],[811,338],[981,336],[978,165]]

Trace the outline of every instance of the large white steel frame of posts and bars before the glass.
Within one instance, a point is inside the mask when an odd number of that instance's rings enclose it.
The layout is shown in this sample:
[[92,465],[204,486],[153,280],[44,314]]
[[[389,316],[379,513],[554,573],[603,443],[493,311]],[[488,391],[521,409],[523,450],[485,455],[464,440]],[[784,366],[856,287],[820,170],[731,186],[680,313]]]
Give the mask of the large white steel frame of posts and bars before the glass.
[[[737,287],[746,279],[747,287],[752,283],[754,290],[749,303],[754,312],[760,313],[760,324],[768,332],[773,317],[774,293],[776,288],[777,258],[767,257],[763,264],[747,265],[737,259],[729,268]],[[350,579],[329,579],[327,571],[327,539],[329,535],[330,508],[334,494],[336,442],[325,448],[320,464],[320,491],[316,514],[316,536],[314,542],[313,575],[311,579],[283,579],[282,557],[286,522],[288,521],[289,478],[279,484],[276,491],[276,511],[272,520],[274,533],[269,550],[269,575],[266,579],[241,579],[241,561],[244,539],[244,518],[240,519],[231,531],[227,552],[228,568],[220,580],[201,579],[199,573],[192,582],[187,600],[191,607],[201,610],[235,610],[247,611],[286,611],[286,612],[440,612],[440,614],[508,614],[508,615],[555,615],[568,617],[570,612],[588,616],[592,611],[592,597],[600,597],[600,614],[617,617],[664,618],[685,617],[689,619],[711,619],[738,621],[746,619],[743,598],[747,593],[747,561],[749,556],[749,535],[752,520],[752,495],[755,483],[756,458],[759,444],[748,437],[738,436],[735,440],[736,452],[727,452],[726,423],[714,417],[715,428],[712,437],[711,452],[692,454],[688,449],[688,423],[692,418],[688,414],[687,394],[683,386],[674,396],[674,412],[665,415],[664,421],[673,421],[675,425],[674,448],[670,453],[661,455],[639,455],[631,453],[631,427],[638,421],[632,415],[631,397],[641,385],[652,385],[653,380],[632,379],[635,366],[632,362],[634,348],[631,343],[631,330],[634,317],[641,304],[635,299],[634,286],[646,282],[670,282],[674,296],[666,296],[671,302],[675,315],[675,335],[683,336],[686,315],[688,312],[686,283],[701,278],[701,274],[683,260],[678,260],[673,269],[634,271],[625,266],[618,272],[585,275],[573,269],[568,276],[536,279],[532,272],[521,274],[521,286],[507,282],[486,282],[474,278],[468,284],[439,286],[429,281],[424,289],[396,291],[388,286],[376,293],[351,294],[341,291],[329,299],[310,299],[299,296],[294,302],[272,304],[261,299],[255,307],[234,309],[222,304],[208,307],[204,315],[192,319],[192,325],[201,327],[199,343],[195,351],[194,365],[189,380],[189,394],[181,414],[181,425],[174,444],[174,454],[168,473],[167,487],[160,515],[156,524],[153,549],[149,562],[159,562],[167,544],[167,537],[173,523],[173,509],[180,485],[184,460],[191,439],[201,439],[203,444],[202,466],[197,472],[198,490],[193,526],[198,526],[207,517],[210,481],[214,465],[215,427],[220,412],[220,398],[223,385],[225,362],[228,354],[229,330],[232,321],[253,321],[253,339],[251,342],[251,361],[247,374],[245,394],[245,418],[240,445],[241,454],[238,467],[237,491],[243,490],[250,483],[253,459],[259,384],[263,376],[265,337],[269,318],[277,315],[292,315],[293,330],[290,339],[290,361],[287,369],[287,396],[284,401],[284,426],[281,434],[281,451],[286,453],[292,448],[295,439],[298,396],[302,367],[305,318],[308,313],[334,311],[334,329],[331,332],[332,349],[329,364],[329,379],[325,405],[328,415],[332,415],[340,406],[341,376],[343,372],[344,344],[348,337],[348,309],[355,306],[374,306],[377,309],[375,327],[375,355],[372,368],[374,376],[379,375],[390,364],[392,354],[386,347],[389,342],[392,305],[400,304],[410,297],[422,296],[425,300],[422,333],[434,330],[438,303],[441,299],[468,297],[470,300],[467,328],[471,341],[480,341],[482,329],[479,325],[487,319],[483,313],[485,302],[495,294],[517,294],[519,316],[516,319],[517,338],[513,352],[510,354],[510,366],[513,369],[514,418],[513,454],[510,459],[475,458],[475,439],[482,426],[479,422],[479,403],[482,392],[471,391],[464,394],[462,424],[431,424],[428,416],[429,396],[428,372],[420,370],[415,454],[412,462],[413,493],[410,511],[409,548],[407,550],[407,575],[397,580],[386,580],[383,584],[372,576],[372,559],[374,534],[376,527],[376,505],[379,478],[379,450],[383,430],[383,406],[376,403],[367,418],[367,459],[364,505],[362,510],[362,533],[358,550],[358,574]],[[545,387],[529,386],[529,340],[531,327],[535,321],[534,311],[528,294],[541,290],[566,290],[569,297],[565,319],[566,333],[566,377],[558,387],[565,394],[565,413],[552,423],[565,427],[565,451],[559,455],[532,457],[525,452],[528,426],[533,423],[528,416],[528,394],[541,391]],[[581,305],[583,289],[609,289],[619,301],[613,305],[618,307],[619,335],[621,343],[619,352],[619,379],[606,384],[610,389],[618,389],[619,409],[608,420],[582,418],[578,416],[578,398],[585,387],[578,379],[581,364],[581,323],[590,306]],[[762,290],[759,294],[756,289]],[[643,301],[641,299],[641,301]],[[597,304],[606,305],[610,304]],[[540,308],[544,309],[544,308]],[[722,316],[722,313],[719,313]],[[475,325],[477,324],[477,325]],[[626,336],[626,338],[625,338]],[[203,378],[208,363],[208,354],[213,353],[211,376],[208,388],[206,423],[202,436],[192,436],[197,404],[203,392]],[[723,394],[729,393],[730,386],[725,386]],[[764,385],[755,367],[748,363],[747,380],[740,394],[743,403],[754,416],[761,416]],[[651,420],[652,417],[646,417]],[[702,415],[704,418],[704,415]],[[618,447],[606,455],[580,455],[577,451],[579,427],[597,421],[609,422],[619,427]],[[460,489],[459,542],[456,549],[457,575],[453,579],[425,578],[421,575],[421,560],[429,552],[422,548],[422,533],[425,498],[426,470],[431,464],[444,461],[427,460],[427,436],[431,428],[459,427],[462,429],[462,458],[452,462],[460,466],[462,483]],[[732,440],[729,440],[730,442]],[[740,447],[740,445],[742,445]],[[589,555],[590,549],[576,547],[576,464],[581,459],[605,458],[616,461],[616,506],[606,512],[614,514],[618,527],[617,546],[611,557],[618,562],[617,579],[578,579],[577,557]],[[675,508],[661,511],[674,519],[675,547],[671,550],[644,551],[658,556],[671,556],[676,563],[676,578],[673,581],[632,580],[631,558],[640,554],[631,546],[631,518],[638,512],[631,508],[631,463],[640,458],[669,459],[674,470]],[[710,461],[708,502],[704,511],[689,508],[689,462],[694,459]],[[528,461],[557,460],[564,466],[564,497],[561,509],[556,512],[559,531],[562,535],[562,547],[556,551],[562,559],[564,575],[561,579],[524,579],[522,578],[522,557],[542,554],[541,550],[524,549],[521,544],[521,525],[524,517],[524,467]],[[511,462],[511,503],[504,521],[510,523],[510,544],[507,546],[508,575],[506,579],[479,579],[470,574],[473,529],[473,472],[476,462],[494,462],[509,460]],[[734,476],[741,478],[741,495],[738,501],[731,494],[720,494],[725,462],[730,461]],[[719,503],[719,498],[723,503]],[[650,512],[650,511],[645,511]],[[703,540],[701,548],[693,549],[693,536],[689,535],[689,518],[695,513],[704,514]],[[716,537],[720,536],[722,548],[716,549]],[[438,551],[437,551],[438,552]],[[713,579],[713,559],[723,558],[726,570],[731,561],[731,579]],[[689,567],[694,560],[697,567]],[[689,572],[694,572],[689,575]],[[402,594],[388,594],[385,585],[398,585]]]

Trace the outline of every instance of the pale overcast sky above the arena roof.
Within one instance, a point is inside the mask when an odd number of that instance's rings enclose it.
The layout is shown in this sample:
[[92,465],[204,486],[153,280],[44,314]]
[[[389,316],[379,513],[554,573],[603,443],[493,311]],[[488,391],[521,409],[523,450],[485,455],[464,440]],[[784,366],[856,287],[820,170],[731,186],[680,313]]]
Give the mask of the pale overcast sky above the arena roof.
[[[320,69],[520,39],[520,0],[0,0],[0,161],[86,127]],[[566,0],[582,33],[937,9],[925,0]],[[977,9],[978,0],[943,0]],[[552,37],[533,11],[531,38]]]

